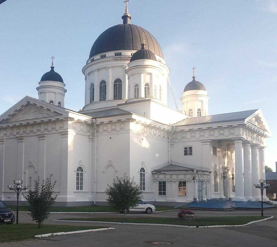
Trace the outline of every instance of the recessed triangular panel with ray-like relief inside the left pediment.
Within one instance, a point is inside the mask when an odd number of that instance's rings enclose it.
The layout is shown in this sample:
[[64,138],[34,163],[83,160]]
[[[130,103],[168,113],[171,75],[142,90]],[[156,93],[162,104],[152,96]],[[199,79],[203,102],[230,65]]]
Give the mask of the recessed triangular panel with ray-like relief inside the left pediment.
[[44,109],[34,104],[27,104],[23,106],[23,109],[20,109],[11,116],[11,118],[2,120],[0,123],[10,123],[16,121],[24,121],[28,119],[36,119],[36,118],[46,118],[52,116],[61,115],[57,112],[52,112],[50,110]]

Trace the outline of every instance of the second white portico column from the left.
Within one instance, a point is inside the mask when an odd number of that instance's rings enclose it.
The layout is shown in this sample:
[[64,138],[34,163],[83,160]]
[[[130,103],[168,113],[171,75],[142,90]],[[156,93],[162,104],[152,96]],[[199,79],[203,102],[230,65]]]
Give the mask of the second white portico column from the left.
[[252,175],[251,175],[251,149],[250,142],[243,143],[243,177],[244,197],[249,201],[255,201],[252,197]]

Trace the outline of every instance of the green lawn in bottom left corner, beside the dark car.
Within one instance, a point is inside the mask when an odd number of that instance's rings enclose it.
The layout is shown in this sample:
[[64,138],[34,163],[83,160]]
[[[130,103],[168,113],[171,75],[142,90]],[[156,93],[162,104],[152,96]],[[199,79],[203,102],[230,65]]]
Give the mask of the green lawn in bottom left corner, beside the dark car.
[[80,231],[88,229],[103,228],[102,226],[64,226],[64,225],[42,225],[38,228],[37,224],[3,224],[0,225],[0,243],[19,241],[29,238],[34,238],[35,235],[67,232],[67,231]]

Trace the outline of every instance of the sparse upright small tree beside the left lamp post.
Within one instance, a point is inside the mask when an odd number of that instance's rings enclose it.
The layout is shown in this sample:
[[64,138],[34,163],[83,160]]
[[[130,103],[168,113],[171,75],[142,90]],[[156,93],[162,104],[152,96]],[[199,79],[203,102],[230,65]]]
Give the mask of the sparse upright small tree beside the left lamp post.
[[31,215],[33,221],[39,224],[39,228],[42,226],[43,221],[49,217],[50,208],[57,198],[57,195],[52,196],[56,184],[56,181],[51,182],[52,176],[53,174],[50,174],[46,180],[43,179],[42,184],[40,184],[40,178],[38,177],[34,180],[35,186],[33,190],[31,189],[32,178],[30,177],[28,195],[24,195],[29,202],[29,205],[27,205],[27,209],[30,211],[29,215]]

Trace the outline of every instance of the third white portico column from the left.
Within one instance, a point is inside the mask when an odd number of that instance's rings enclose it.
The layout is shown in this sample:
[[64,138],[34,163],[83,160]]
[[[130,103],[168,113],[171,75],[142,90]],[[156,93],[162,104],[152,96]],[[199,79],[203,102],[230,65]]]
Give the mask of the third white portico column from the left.
[[257,200],[261,200],[260,190],[254,187],[259,182],[259,166],[258,166],[258,146],[251,147],[251,174],[252,174],[252,196]]

